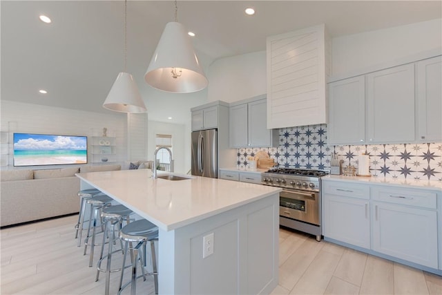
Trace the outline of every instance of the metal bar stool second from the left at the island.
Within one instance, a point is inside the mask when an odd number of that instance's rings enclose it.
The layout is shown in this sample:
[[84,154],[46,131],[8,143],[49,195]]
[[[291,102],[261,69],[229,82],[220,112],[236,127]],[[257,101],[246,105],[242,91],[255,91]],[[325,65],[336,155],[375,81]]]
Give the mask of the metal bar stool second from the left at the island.
[[[99,212],[103,209],[103,207],[108,207],[111,205],[113,199],[109,196],[106,196],[104,193],[100,193],[98,195],[93,196],[92,198],[86,200],[86,203],[90,205],[90,216],[89,216],[89,225],[88,225],[88,234],[84,239],[84,253],[86,255],[86,251],[88,249],[88,245],[90,246],[90,254],[89,254],[89,267],[93,265],[94,259],[94,247],[95,247],[95,235],[97,233],[97,221],[99,220],[100,214]],[[100,222],[102,226],[103,223]],[[92,235],[90,234],[90,229],[92,228]],[[92,241],[89,242],[89,238],[92,238]]]

